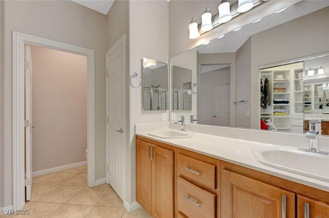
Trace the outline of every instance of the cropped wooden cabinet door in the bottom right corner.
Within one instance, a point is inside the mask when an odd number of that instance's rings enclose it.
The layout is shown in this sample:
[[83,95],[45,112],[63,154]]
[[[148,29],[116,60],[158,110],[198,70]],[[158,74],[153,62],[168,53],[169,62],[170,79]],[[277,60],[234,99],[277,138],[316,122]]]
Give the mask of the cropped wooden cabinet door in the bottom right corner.
[[303,195],[297,197],[298,218],[327,218],[329,205]]

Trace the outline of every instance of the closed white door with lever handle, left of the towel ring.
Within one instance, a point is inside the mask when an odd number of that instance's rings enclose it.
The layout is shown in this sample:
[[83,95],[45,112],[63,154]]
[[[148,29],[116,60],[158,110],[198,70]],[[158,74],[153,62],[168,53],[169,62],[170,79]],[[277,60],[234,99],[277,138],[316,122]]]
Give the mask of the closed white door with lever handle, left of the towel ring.
[[122,38],[106,53],[106,182],[121,199],[125,149],[125,48]]

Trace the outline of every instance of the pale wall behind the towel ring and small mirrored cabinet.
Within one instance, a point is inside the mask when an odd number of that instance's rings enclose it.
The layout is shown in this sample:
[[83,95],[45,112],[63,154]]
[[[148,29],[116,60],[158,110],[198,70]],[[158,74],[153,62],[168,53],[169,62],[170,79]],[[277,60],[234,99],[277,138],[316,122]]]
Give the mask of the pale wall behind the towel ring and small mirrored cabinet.
[[[129,39],[130,75],[141,75],[143,57],[163,63],[169,59],[169,17],[167,1],[130,1],[129,3]],[[135,141],[134,126],[141,123],[162,121],[162,111],[143,111],[142,87],[129,87],[130,98],[130,147],[127,156],[127,175],[129,187],[127,201],[135,201]],[[165,111],[166,112],[166,111]],[[167,111],[168,115],[168,111]]]

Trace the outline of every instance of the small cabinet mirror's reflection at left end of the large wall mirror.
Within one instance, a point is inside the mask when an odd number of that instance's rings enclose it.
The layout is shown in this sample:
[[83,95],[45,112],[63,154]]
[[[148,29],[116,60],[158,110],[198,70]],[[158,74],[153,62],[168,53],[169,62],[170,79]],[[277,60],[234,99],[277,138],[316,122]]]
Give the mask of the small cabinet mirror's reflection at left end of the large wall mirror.
[[192,110],[192,70],[172,66],[172,109]]

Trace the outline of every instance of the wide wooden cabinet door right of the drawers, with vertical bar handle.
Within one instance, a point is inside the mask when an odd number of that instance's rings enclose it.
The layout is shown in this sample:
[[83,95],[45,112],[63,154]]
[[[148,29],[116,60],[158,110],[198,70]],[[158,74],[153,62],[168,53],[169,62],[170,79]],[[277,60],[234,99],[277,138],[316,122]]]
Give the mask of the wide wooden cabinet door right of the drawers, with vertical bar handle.
[[221,217],[295,217],[295,193],[225,169],[221,172],[221,204]]

